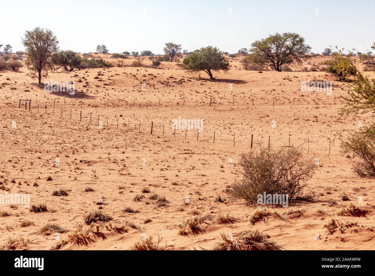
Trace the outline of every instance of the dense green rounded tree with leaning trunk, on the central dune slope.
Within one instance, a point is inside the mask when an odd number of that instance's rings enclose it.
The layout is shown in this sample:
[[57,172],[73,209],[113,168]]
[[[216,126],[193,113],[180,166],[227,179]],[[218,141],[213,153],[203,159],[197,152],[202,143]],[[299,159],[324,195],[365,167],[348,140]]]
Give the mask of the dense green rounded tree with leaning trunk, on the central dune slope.
[[186,57],[183,60],[183,66],[193,73],[204,71],[210,76],[211,80],[214,79],[212,71],[219,72],[222,70],[227,72],[231,67],[223,52],[212,46],[201,48],[199,53],[193,53]]

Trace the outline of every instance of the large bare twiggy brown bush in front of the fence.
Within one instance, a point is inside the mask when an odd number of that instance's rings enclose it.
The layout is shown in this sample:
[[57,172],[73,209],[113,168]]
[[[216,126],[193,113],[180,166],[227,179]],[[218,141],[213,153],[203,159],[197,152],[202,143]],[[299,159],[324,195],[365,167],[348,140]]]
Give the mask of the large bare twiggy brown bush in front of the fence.
[[234,180],[228,194],[234,199],[245,199],[250,205],[258,204],[258,195],[285,194],[288,200],[311,200],[304,188],[317,169],[314,159],[306,157],[302,146],[281,147],[273,150],[258,145],[239,160],[240,177]]

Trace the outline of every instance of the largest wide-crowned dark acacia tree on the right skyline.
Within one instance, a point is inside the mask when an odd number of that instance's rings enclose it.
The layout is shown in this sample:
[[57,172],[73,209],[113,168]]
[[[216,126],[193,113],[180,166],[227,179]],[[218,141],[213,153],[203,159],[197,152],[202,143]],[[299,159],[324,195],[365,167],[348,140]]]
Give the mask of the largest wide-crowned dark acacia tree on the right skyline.
[[297,33],[276,33],[251,44],[250,57],[252,63],[272,66],[281,72],[284,64],[301,64],[308,60],[311,47],[305,44],[305,38]]

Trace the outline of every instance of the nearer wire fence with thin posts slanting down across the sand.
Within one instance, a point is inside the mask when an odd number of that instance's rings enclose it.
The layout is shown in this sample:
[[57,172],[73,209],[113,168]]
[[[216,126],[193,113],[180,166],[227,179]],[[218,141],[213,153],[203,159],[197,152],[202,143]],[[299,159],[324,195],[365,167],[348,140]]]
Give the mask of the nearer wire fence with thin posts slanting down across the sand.
[[[35,103],[34,103],[35,104]],[[211,103],[212,104],[212,103]],[[18,107],[18,106],[17,106]],[[92,107],[89,107],[92,108]],[[293,139],[291,141],[291,137],[271,137],[269,134],[265,133],[257,133],[254,132],[253,134],[244,133],[241,130],[234,130],[237,132],[231,133],[224,133],[223,129],[215,129],[215,127],[204,127],[199,128],[199,123],[195,127],[193,124],[182,124],[182,127],[180,124],[173,124],[172,122],[160,122],[155,120],[135,120],[123,117],[122,115],[114,115],[114,113],[118,113],[118,110],[114,109],[108,109],[107,114],[103,114],[105,110],[101,109],[101,112],[91,112],[87,109],[80,109],[77,107],[74,108],[63,108],[63,107],[52,107],[45,104],[44,106],[40,107],[39,104],[37,106],[33,106],[33,103],[31,103],[31,109],[29,111],[29,106],[26,106],[26,109],[24,109],[21,106],[21,109],[32,112],[35,115],[37,114],[45,114],[52,118],[54,118],[56,121],[58,120],[73,120],[73,121],[80,121],[88,125],[96,125],[98,129],[105,129],[106,127],[116,128],[122,131],[132,131],[139,134],[150,134],[150,135],[157,135],[159,137],[168,137],[173,139],[179,139],[179,140],[189,140],[189,141],[196,141],[196,142],[208,142],[208,143],[226,143],[229,146],[236,146],[240,143],[243,145],[245,143],[248,148],[253,148],[255,144],[258,142],[263,142],[268,146],[270,145],[284,145],[287,147],[291,146],[291,142],[293,144],[298,142],[299,144],[307,143],[307,153],[309,150],[312,150],[311,144],[316,144],[319,139],[322,139],[322,137],[308,137],[307,135],[299,135],[299,136],[293,136]],[[96,109],[96,108],[95,108]],[[40,116],[39,116],[40,117]],[[204,129],[204,131],[203,131]],[[246,135],[244,138],[243,136]],[[266,139],[264,139],[266,137]],[[260,139],[260,140],[259,140]],[[331,154],[331,140],[326,142],[326,145],[322,147],[322,144],[320,144],[319,148],[314,147],[314,149],[326,152],[327,155]]]

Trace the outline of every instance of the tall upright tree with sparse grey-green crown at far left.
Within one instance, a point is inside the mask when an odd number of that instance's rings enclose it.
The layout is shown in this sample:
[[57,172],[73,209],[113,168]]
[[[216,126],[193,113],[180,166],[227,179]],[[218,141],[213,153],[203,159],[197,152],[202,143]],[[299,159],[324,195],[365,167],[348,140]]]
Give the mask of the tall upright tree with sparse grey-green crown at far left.
[[58,40],[51,30],[36,27],[26,31],[21,42],[26,52],[24,63],[40,84],[42,72],[52,69],[51,57],[58,50]]

